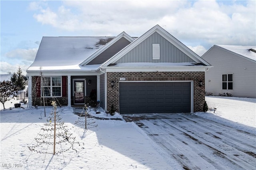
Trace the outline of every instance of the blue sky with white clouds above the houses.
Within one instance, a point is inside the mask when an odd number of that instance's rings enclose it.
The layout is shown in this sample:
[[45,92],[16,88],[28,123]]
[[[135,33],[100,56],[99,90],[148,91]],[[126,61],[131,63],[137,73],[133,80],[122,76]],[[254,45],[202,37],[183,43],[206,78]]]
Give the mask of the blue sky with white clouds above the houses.
[[26,75],[43,36],[142,36],[156,24],[199,56],[256,45],[256,1],[0,0],[0,74]]

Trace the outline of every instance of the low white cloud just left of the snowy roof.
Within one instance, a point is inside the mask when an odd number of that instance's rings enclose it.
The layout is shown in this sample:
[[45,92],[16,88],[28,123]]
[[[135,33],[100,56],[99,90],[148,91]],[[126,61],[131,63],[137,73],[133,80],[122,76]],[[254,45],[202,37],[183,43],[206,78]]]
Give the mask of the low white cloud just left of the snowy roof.
[[32,49],[14,49],[5,54],[6,57],[20,60],[34,61],[38,48]]

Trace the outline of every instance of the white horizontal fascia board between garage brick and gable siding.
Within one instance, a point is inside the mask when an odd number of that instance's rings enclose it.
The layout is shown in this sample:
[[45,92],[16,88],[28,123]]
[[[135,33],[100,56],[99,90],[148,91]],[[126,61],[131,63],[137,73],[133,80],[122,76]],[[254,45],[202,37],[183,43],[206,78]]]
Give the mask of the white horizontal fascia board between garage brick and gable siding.
[[206,71],[212,66],[184,66],[184,67],[102,67],[106,72],[157,72],[157,71]]

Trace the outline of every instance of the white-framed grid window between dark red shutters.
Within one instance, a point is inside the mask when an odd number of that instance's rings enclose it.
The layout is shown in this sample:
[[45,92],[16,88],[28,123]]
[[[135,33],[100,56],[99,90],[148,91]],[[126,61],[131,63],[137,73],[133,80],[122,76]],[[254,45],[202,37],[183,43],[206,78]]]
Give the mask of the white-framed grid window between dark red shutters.
[[42,78],[42,96],[61,97],[61,77]]

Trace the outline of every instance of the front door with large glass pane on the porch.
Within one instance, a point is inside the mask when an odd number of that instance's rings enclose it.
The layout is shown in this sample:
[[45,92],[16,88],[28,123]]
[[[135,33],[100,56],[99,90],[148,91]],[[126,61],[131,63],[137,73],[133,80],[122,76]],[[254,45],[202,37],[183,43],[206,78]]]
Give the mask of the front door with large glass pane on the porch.
[[84,81],[74,81],[74,104],[84,104]]

